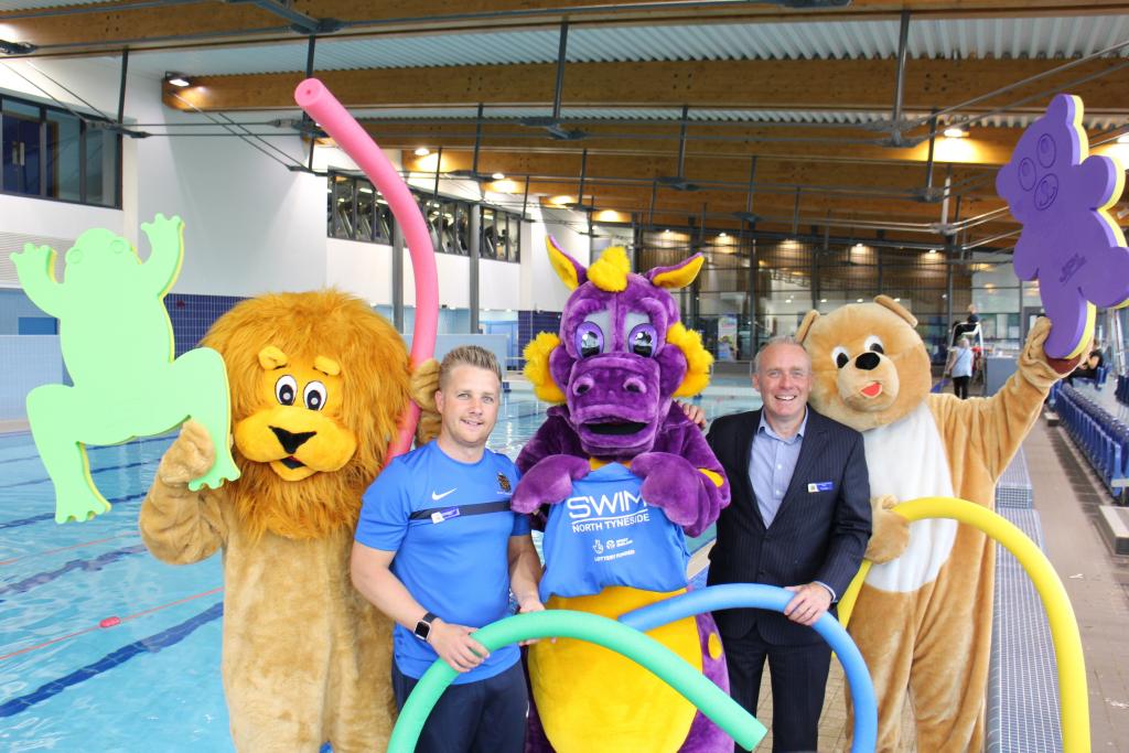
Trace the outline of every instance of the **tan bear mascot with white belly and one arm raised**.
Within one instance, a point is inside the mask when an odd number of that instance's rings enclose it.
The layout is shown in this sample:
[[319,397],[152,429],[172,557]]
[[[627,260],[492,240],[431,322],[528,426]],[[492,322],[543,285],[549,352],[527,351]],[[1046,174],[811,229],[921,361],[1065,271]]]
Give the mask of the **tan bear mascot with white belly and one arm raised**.
[[[955,520],[907,524],[891,511],[920,497],[957,497],[987,508],[1060,374],[1049,359],[1050,323],[1032,327],[1018,368],[998,393],[931,394],[917,319],[886,296],[811,312],[797,339],[812,357],[815,410],[863,432],[874,505],[866,577],[849,630],[878,699],[878,750],[903,738],[907,693],[918,750],[965,753],[983,745],[991,647],[995,543]],[[910,735],[911,736],[911,735]]]

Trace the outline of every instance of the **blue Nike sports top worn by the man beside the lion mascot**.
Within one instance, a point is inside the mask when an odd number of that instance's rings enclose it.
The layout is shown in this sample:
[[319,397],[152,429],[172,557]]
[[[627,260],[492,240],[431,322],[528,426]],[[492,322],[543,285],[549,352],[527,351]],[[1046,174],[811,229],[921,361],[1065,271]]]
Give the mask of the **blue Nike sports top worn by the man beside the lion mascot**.
[[[420,605],[445,622],[482,628],[509,612],[510,536],[530,533],[530,520],[509,509],[463,514],[476,505],[508,502],[517,466],[485,450],[478,463],[448,457],[435,441],[395,458],[365,492],[356,539],[395,552],[392,572]],[[412,519],[413,513],[435,510]],[[396,625],[396,666],[420,677],[438,658],[429,643]],[[519,658],[516,646],[490,654],[455,684],[492,677]]]

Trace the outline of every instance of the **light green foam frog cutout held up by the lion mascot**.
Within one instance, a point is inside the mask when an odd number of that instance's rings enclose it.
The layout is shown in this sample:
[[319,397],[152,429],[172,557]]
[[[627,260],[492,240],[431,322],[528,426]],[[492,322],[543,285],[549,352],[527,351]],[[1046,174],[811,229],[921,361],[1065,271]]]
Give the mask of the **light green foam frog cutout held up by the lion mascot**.
[[198,348],[175,359],[165,295],[181,271],[184,222],[157,214],[141,229],[152,253],[141,263],[110,230],[87,230],[67,252],[27,244],[11,255],[24,292],[59,319],[63,361],[75,386],[41,385],[27,395],[27,420],[55,488],[55,522],[88,520],[110,509],[90,478],[85,445],[116,445],[164,434],[189,418],[204,426],[216,462],[189,489],[239,478],[230,453],[230,399],[224,359]]

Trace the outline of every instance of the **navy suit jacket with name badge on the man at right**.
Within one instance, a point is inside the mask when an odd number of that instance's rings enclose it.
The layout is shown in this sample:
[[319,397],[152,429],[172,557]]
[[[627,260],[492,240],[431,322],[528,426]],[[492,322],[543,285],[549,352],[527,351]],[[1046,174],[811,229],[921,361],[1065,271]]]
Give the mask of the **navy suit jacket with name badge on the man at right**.
[[[870,481],[863,435],[807,408],[807,428],[799,459],[780,509],[764,525],[749,461],[760,411],[717,419],[706,440],[729,478],[732,504],[717,522],[710,551],[708,584],[762,583],[798,586],[820,580],[841,597],[863,561],[870,539]],[[831,482],[814,491],[808,484]],[[772,645],[822,640],[779,612],[725,610],[715,613],[721,636],[743,637],[756,627]]]

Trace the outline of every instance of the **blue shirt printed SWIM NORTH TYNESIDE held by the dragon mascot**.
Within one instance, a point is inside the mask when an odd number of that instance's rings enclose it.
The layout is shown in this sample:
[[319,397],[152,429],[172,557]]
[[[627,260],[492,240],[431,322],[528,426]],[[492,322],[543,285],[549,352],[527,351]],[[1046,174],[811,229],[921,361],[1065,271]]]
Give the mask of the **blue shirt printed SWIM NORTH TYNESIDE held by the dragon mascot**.
[[588,596],[604,586],[668,592],[686,585],[686,541],[666,514],[642,501],[642,479],[619,463],[572,483],[553,505],[542,548],[541,601]]

